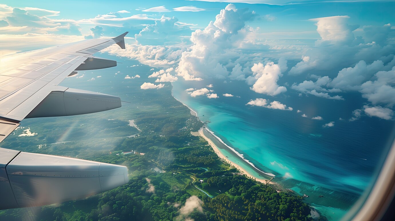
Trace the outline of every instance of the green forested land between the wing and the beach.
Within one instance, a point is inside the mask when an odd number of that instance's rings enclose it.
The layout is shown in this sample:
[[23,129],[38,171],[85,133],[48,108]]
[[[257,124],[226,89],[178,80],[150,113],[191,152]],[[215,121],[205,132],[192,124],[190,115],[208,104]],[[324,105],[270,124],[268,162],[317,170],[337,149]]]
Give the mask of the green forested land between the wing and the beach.
[[[170,93],[167,87],[137,94],[130,109],[141,131],[130,127],[138,135],[123,137],[111,150],[87,151],[77,142],[34,150],[18,144],[23,151],[125,165],[129,183],[82,200],[2,210],[0,220],[311,220],[300,196],[278,193],[270,184],[246,177],[221,160],[206,140],[191,135],[204,124]],[[7,145],[17,142],[11,137]],[[122,154],[132,150],[145,155]]]

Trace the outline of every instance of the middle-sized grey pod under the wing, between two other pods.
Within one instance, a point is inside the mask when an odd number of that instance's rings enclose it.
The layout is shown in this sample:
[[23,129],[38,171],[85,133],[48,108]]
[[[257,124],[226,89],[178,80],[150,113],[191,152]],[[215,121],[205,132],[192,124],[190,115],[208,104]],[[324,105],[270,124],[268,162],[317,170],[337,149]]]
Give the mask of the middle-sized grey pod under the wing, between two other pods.
[[89,114],[121,106],[120,97],[68,88],[51,92],[26,118]]

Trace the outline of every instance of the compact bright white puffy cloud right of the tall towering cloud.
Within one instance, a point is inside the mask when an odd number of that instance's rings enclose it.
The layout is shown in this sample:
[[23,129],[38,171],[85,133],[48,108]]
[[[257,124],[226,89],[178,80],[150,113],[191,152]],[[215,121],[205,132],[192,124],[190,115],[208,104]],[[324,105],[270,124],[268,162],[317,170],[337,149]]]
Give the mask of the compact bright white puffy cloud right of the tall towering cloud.
[[254,64],[253,71],[256,82],[252,85],[251,90],[260,93],[275,96],[286,92],[287,88],[278,86],[278,78],[282,76],[280,66],[274,62],[268,62],[265,66],[262,63]]

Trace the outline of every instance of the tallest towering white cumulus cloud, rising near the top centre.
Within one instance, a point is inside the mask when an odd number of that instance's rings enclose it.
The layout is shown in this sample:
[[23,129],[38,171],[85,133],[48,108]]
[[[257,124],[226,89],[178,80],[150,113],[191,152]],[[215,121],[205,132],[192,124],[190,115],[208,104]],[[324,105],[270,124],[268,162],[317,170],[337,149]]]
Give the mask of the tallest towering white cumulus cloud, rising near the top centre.
[[204,30],[198,29],[192,33],[190,41],[193,45],[190,51],[182,53],[176,68],[178,75],[195,81],[203,77],[227,77],[229,71],[226,65],[229,60],[240,57],[234,48],[250,32],[245,23],[254,16],[247,10],[236,9],[233,4],[222,9],[215,21],[211,21]]

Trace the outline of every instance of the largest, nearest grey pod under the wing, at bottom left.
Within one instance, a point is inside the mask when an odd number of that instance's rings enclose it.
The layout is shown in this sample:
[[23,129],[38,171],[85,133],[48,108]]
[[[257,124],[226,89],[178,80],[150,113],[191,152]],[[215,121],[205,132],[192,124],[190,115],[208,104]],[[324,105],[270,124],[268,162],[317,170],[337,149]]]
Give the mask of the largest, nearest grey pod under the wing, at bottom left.
[[124,166],[0,148],[0,210],[81,199],[128,181]]

